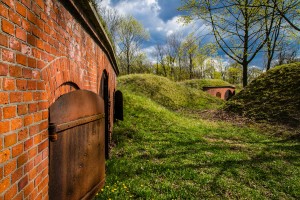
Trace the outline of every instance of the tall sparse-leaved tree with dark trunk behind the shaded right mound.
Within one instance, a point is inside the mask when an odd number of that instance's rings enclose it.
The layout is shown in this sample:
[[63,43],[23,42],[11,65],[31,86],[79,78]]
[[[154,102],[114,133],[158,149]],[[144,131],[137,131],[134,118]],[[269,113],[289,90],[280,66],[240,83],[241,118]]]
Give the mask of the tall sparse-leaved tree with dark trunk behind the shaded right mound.
[[[188,11],[186,22],[201,19],[212,29],[222,51],[243,66],[243,86],[248,83],[248,65],[267,42],[274,20],[266,17],[255,0],[185,0],[180,10]],[[274,13],[274,9],[272,10]],[[265,31],[265,27],[269,31]]]

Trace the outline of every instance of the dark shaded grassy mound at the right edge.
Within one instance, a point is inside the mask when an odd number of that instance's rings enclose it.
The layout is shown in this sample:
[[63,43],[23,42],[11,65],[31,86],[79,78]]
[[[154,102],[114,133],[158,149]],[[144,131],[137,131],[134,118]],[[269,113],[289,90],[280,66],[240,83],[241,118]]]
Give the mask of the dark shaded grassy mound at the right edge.
[[228,101],[226,110],[299,127],[300,63],[282,65],[262,74]]

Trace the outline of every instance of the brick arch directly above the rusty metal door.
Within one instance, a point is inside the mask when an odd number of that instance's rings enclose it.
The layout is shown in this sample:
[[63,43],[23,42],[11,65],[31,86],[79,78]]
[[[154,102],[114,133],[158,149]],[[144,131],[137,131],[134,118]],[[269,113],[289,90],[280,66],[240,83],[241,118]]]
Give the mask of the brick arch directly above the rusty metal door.
[[84,69],[67,57],[59,57],[41,70],[49,106],[61,95],[83,88]]

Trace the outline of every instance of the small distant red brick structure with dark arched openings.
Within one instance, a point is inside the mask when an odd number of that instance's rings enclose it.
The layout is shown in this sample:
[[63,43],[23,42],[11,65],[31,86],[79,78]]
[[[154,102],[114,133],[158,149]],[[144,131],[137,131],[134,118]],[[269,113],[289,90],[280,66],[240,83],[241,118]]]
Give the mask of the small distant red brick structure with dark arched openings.
[[235,95],[234,86],[206,86],[203,87],[203,91],[224,100],[228,100],[230,97]]

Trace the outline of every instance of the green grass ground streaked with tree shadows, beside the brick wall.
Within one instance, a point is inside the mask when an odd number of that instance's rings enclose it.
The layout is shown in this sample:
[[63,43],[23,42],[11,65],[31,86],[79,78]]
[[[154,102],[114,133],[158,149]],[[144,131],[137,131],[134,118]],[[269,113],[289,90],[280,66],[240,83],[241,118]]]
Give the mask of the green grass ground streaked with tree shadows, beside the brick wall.
[[[129,85],[130,86],[130,85]],[[300,142],[191,119],[121,85],[123,122],[96,199],[299,199]]]

